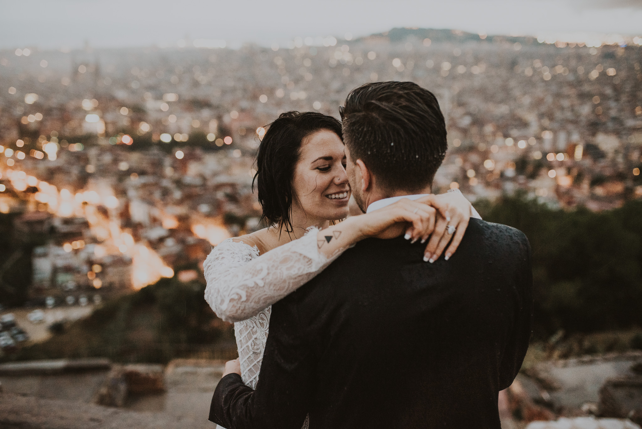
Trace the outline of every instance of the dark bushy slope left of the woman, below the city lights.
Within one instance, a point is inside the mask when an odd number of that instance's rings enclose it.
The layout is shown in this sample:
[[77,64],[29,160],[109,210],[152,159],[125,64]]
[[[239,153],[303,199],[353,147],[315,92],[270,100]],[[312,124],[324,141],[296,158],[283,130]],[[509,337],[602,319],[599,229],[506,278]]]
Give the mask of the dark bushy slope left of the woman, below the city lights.
[[[234,327],[214,315],[200,280],[163,278],[117,298],[73,324],[52,325],[55,336],[12,359],[87,358],[167,362],[177,357],[234,358]],[[220,352],[218,352],[220,351]],[[216,356],[216,353],[221,356]],[[227,353],[227,354],[226,354]]]

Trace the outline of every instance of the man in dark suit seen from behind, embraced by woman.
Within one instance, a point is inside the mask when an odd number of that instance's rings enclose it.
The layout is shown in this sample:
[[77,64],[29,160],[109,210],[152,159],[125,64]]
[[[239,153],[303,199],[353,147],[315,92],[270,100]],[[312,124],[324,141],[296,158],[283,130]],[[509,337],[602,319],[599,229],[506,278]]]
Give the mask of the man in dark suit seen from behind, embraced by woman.
[[[446,154],[435,96],[412,82],[354,89],[342,110],[354,199],[371,211],[431,193]],[[523,233],[471,219],[458,251],[365,239],[272,306],[256,390],[221,379],[209,419],[228,429],[495,428],[498,392],[531,333]]]

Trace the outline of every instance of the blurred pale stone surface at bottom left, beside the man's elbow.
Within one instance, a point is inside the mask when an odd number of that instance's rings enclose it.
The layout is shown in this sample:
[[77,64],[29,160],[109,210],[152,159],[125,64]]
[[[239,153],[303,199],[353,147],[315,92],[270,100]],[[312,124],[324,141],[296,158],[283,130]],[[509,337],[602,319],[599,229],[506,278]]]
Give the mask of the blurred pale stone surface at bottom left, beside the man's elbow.
[[103,381],[124,378],[121,365],[109,372],[0,377],[0,429],[214,429],[207,415],[223,364],[171,361],[164,369],[164,392],[130,393],[121,408],[92,403]]

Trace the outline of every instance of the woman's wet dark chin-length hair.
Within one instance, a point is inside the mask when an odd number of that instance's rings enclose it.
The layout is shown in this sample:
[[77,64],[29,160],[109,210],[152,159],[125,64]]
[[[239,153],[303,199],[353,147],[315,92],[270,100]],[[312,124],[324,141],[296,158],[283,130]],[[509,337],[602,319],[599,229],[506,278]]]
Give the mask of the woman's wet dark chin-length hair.
[[342,138],[341,122],[317,112],[286,112],[267,126],[256,156],[252,181],[257,181],[259,203],[263,217],[270,224],[285,226],[292,231],[292,180],[299,161],[299,149],[304,138],[320,130],[334,132]]

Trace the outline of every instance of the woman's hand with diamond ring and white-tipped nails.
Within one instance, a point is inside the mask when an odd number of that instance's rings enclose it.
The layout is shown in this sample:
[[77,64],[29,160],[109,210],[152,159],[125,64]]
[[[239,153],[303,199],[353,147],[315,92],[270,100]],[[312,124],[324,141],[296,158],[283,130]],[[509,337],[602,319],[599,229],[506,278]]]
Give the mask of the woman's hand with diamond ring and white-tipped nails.
[[468,223],[473,214],[473,205],[464,197],[461,192],[446,192],[441,195],[429,195],[417,199],[418,202],[431,205],[437,209],[437,221],[431,234],[424,234],[422,242],[430,241],[426,246],[424,260],[435,262],[442,255],[448,242],[450,246],[446,250],[444,259],[448,260],[457,250]]

